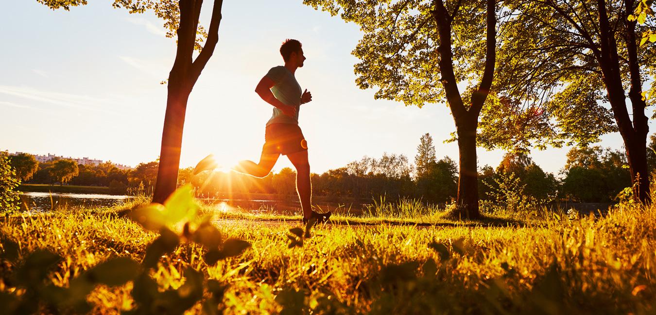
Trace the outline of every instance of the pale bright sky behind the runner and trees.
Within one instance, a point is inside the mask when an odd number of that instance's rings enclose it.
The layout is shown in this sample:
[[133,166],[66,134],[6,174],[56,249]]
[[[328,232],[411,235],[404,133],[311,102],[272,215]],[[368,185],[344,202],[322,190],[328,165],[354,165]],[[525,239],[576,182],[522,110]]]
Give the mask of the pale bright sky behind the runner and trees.
[[[209,28],[211,3],[201,24]],[[175,40],[153,12],[129,14],[112,0],[70,11],[36,0],[9,1],[0,10],[0,150],[89,157],[136,166],[159,157],[168,77]],[[190,94],[180,167],[209,153],[221,164],[260,157],[272,106],[254,92],[279,46],[298,39],[307,60],[296,72],[312,102],[299,112],[312,172],[321,174],[363,156],[405,155],[413,162],[429,133],[436,156],[458,160],[455,131],[443,103],[406,107],[374,100],[356,86],[351,52],[363,33],[356,24],[302,5],[301,0],[225,1],[216,50]],[[651,124],[651,122],[650,122]],[[622,148],[619,134],[598,143]],[[533,150],[558,175],[569,147]],[[478,164],[496,167],[504,152],[478,148]],[[274,172],[293,167],[281,157]]]

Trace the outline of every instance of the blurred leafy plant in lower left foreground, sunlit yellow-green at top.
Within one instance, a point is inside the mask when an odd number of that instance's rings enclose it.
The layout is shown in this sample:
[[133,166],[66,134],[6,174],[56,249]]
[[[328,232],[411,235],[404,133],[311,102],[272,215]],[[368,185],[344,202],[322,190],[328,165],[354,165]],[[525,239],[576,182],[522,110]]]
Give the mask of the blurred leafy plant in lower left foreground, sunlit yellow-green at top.
[[[143,261],[138,263],[129,257],[109,259],[70,280],[68,287],[47,281],[49,271],[64,257],[45,250],[27,253],[9,281],[19,289],[14,293],[22,291],[22,294],[1,292],[0,305],[5,305],[5,311],[9,314],[33,314],[41,306],[51,312],[84,313],[92,308],[87,302],[87,295],[96,286],[122,286],[133,281],[131,295],[136,307],[125,314],[182,314],[201,301],[205,291],[211,293],[211,298],[203,301],[203,310],[208,314],[218,313],[226,284],[206,280],[202,272],[192,267],[184,269],[186,281],[177,289],[161,290],[151,276],[161,257],[176,250],[184,240],[201,244],[207,249],[203,257],[207,265],[239,255],[251,246],[249,242],[235,238],[222,240],[221,232],[209,223],[210,218],[199,219],[197,210],[191,187],[178,189],[163,205],[150,204],[134,210],[130,213],[131,219],[149,231],[159,232],[159,237],[146,248]],[[186,222],[181,233],[169,229],[183,219]],[[20,245],[4,234],[0,236],[3,246],[0,259],[18,263]]]

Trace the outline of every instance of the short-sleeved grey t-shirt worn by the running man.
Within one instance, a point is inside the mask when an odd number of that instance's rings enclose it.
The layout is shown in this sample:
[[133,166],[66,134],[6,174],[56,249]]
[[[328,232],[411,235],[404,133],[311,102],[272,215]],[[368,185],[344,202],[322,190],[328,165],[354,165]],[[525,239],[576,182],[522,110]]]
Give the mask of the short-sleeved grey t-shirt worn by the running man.
[[271,88],[271,92],[274,93],[274,96],[285,105],[291,105],[296,107],[296,115],[294,117],[289,117],[283,113],[280,109],[274,107],[274,115],[266,123],[266,125],[274,124],[277,122],[282,122],[284,124],[298,124],[298,110],[300,109],[300,96],[302,90],[300,85],[296,81],[293,73],[289,71],[286,67],[278,65],[277,67],[272,67],[266,77],[274,81],[276,85]]

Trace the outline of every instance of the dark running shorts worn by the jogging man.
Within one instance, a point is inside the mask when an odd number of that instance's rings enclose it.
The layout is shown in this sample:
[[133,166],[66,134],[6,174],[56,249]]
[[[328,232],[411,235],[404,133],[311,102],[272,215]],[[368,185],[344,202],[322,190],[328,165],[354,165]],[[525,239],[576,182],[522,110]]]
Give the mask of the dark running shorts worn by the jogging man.
[[308,149],[308,142],[297,124],[275,123],[266,126],[262,153],[288,155]]

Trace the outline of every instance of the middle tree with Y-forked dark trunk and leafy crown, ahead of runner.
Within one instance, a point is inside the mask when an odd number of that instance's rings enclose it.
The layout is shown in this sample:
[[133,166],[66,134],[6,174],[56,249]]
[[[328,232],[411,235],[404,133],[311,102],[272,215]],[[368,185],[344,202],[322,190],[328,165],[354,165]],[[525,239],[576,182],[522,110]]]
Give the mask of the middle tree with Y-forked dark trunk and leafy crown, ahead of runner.
[[[495,70],[494,0],[304,0],[364,32],[353,54],[360,88],[375,98],[422,107],[448,103],[459,146],[457,202],[462,217],[478,218],[476,130]],[[459,83],[468,87],[461,92]]]

